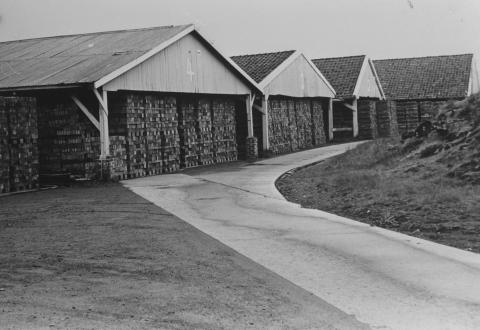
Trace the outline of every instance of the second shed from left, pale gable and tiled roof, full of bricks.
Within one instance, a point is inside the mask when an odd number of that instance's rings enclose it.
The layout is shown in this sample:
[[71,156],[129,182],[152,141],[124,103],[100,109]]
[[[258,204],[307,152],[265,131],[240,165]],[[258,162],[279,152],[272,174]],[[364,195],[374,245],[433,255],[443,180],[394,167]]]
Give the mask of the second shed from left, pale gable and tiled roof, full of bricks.
[[335,90],[301,52],[241,55],[232,59],[262,91],[253,103],[253,129],[260,153],[281,154],[326,142]]

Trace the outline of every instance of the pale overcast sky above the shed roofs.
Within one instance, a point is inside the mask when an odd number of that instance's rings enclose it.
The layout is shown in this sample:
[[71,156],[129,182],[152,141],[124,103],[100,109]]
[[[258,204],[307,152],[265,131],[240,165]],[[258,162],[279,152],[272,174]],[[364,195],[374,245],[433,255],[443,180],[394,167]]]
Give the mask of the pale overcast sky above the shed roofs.
[[480,53],[480,0],[1,0],[0,41],[194,23],[226,55]]

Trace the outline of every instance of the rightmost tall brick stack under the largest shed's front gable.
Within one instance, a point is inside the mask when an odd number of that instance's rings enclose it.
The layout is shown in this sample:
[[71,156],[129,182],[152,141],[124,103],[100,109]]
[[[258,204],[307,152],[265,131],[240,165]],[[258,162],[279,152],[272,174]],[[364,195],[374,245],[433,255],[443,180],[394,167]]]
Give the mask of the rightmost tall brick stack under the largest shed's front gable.
[[212,102],[213,155],[216,163],[237,160],[235,103],[230,100]]

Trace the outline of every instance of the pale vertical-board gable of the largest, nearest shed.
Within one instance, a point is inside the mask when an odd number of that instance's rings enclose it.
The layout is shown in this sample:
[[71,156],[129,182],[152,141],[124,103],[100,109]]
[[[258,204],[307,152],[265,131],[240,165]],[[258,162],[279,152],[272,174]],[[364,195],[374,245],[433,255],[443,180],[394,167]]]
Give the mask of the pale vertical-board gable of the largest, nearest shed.
[[112,80],[104,88],[108,91],[250,93],[247,85],[190,34]]

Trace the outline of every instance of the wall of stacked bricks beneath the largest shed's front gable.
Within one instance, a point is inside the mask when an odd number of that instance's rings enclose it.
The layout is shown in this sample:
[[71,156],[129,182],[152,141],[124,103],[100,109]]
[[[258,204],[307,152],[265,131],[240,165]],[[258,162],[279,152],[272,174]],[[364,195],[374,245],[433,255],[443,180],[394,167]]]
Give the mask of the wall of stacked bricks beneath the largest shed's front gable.
[[122,177],[125,168],[128,177],[139,177],[237,159],[231,100],[125,92],[111,99],[110,166],[115,176]]

